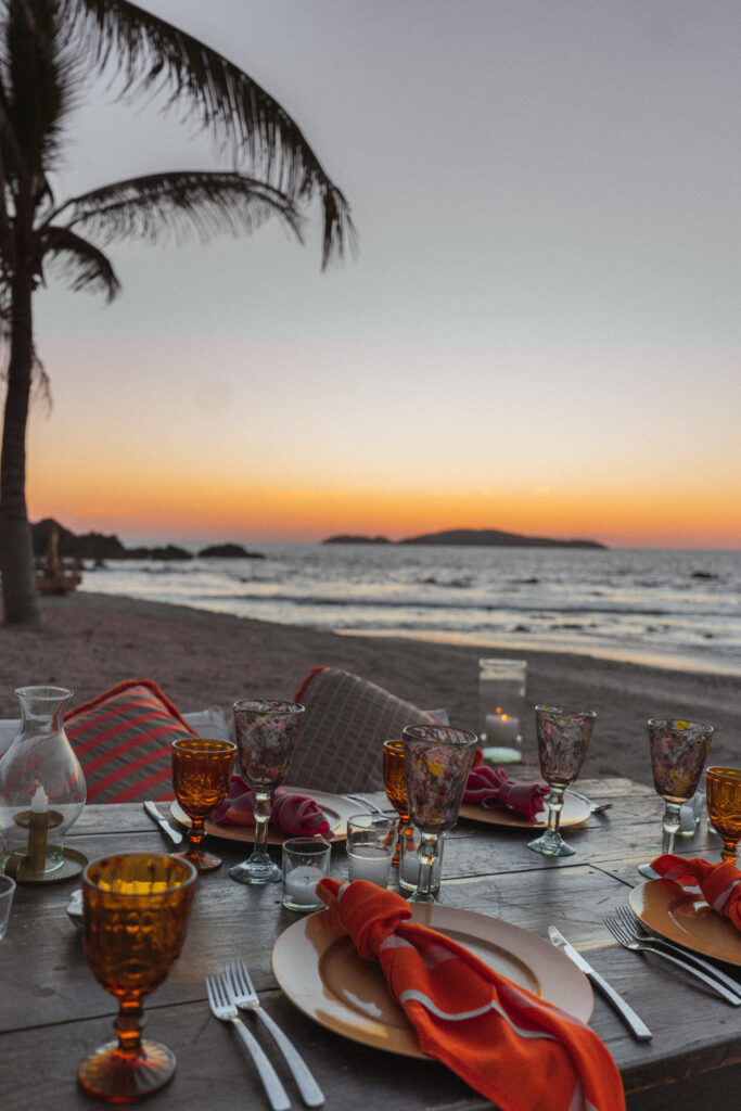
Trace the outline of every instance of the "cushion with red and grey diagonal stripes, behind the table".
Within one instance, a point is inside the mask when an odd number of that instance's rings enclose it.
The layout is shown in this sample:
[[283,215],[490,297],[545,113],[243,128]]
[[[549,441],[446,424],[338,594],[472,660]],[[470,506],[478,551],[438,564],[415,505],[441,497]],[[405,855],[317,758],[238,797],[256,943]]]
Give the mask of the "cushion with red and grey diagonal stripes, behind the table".
[[173,799],[170,745],[197,735],[149,679],[129,679],[70,710],[64,730],[88,781],[88,802]]

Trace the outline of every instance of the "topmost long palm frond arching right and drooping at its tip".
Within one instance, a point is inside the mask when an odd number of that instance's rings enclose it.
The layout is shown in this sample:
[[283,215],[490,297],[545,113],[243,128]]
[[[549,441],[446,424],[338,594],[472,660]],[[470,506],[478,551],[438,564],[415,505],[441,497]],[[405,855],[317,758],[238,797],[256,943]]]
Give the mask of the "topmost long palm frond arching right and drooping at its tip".
[[354,246],[349,204],[298,124],[238,66],[129,0],[57,0],[69,34],[82,37],[94,64],[113,58],[122,94],[162,93],[189,102],[197,123],[221,136],[256,173],[294,202],[319,193],[323,206],[322,268]]

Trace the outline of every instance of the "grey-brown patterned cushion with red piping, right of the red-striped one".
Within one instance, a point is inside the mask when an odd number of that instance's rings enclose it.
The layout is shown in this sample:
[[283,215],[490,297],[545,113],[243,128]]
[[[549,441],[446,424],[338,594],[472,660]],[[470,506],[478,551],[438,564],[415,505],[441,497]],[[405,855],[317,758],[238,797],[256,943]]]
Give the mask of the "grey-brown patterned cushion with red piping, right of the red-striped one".
[[307,709],[286,782],[317,791],[382,790],[383,741],[413,722],[435,723],[412,702],[336,668],[314,668],[296,701]]

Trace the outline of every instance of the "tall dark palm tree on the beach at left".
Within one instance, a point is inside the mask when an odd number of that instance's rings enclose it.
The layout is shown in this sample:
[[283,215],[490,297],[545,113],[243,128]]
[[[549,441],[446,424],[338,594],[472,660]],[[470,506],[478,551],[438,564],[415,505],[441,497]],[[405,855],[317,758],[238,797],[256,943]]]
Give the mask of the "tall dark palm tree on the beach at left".
[[[229,157],[223,172],[158,173],[59,203],[50,179],[86,81],[116,67],[129,100],[184,103]],[[242,172],[241,168],[250,173]],[[319,197],[322,269],[353,240],[350,209],[290,116],[221,54],[128,0],[0,0],[0,330],[6,406],[0,574],[7,622],[38,618],[26,507],[26,429],[34,377],[32,298],[48,263],[72,290],[119,290],[102,247],[176,232],[203,240],[278,217],[300,240]],[[89,238],[92,236],[101,246]]]

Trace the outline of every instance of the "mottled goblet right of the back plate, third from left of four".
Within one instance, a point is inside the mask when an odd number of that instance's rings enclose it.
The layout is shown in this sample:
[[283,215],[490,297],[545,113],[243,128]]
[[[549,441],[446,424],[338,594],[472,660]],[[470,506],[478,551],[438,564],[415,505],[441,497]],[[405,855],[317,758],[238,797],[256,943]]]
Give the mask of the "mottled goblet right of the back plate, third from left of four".
[[564,705],[535,707],[540,772],[549,787],[548,827],[539,838],[528,843],[528,848],[543,857],[574,854],[559,829],[563,792],[579,777],[595,719],[593,710]]

